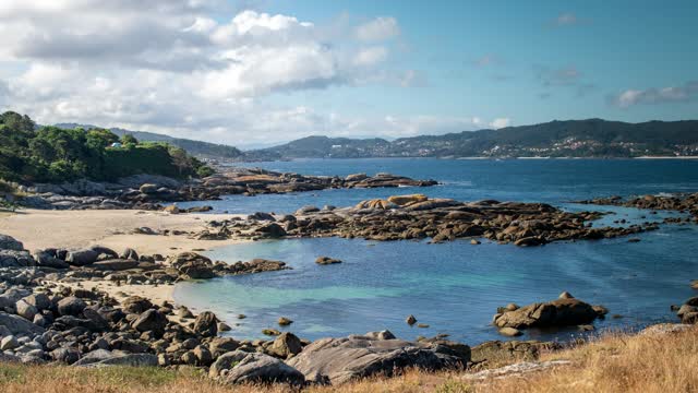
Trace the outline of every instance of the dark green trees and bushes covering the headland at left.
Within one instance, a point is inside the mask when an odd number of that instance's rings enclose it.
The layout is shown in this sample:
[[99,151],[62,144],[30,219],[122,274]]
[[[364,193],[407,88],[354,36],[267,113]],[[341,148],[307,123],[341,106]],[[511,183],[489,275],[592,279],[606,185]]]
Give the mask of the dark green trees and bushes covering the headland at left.
[[27,116],[0,115],[0,179],[111,181],[136,174],[188,178],[210,172],[182,148],[164,142],[139,142],[132,135],[119,139],[103,129],[37,129]]

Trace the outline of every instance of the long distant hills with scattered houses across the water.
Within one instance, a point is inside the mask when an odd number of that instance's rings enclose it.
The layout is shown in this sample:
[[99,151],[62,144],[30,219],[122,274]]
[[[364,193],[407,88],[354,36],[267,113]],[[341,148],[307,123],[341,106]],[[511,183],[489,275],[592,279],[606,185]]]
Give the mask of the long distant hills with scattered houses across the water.
[[308,136],[245,159],[365,157],[638,157],[698,155],[698,121],[551,121],[498,130],[384,139]]

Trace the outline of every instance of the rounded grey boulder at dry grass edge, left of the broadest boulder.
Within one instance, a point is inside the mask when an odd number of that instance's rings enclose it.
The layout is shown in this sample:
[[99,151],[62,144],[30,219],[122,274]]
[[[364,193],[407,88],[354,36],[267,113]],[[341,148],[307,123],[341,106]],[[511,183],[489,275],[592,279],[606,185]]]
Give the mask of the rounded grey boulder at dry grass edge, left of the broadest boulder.
[[224,377],[227,383],[288,383],[300,386],[305,378],[297,369],[264,354],[249,354]]

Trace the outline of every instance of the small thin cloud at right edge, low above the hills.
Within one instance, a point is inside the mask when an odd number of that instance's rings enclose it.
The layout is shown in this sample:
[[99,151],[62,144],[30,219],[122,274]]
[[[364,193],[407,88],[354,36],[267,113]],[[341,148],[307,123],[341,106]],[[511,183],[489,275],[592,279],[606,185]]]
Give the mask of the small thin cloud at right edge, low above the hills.
[[682,86],[627,90],[611,96],[613,105],[628,108],[638,104],[686,103],[698,98],[698,81],[686,82]]

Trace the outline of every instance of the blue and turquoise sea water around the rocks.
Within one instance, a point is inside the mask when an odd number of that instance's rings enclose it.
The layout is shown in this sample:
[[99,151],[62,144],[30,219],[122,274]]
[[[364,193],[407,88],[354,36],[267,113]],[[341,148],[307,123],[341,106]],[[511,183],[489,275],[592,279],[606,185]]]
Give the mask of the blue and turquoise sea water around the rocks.
[[[417,190],[430,196],[546,201],[567,210],[614,213],[595,225],[612,225],[619,218],[641,222],[646,221],[643,215],[661,221],[671,214],[568,202],[610,194],[698,190],[698,163],[685,160],[360,159],[255,165],[315,175],[392,171],[442,181],[443,186]],[[348,205],[413,191],[230,196],[218,201],[216,209],[290,212],[305,204]],[[496,307],[547,300],[563,290],[624,317],[597,322],[597,327],[628,329],[672,320],[670,305],[693,296],[688,282],[698,278],[697,226],[662,225],[639,238],[642,241],[634,243],[611,239],[540,248],[337,238],[251,242],[215,249],[208,255],[227,262],[279,259],[293,270],[182,283],[174,297],[195,310],[216,312],[233,325],[230,334],[236,337],[260,337],[264,327],[278,329],[275,321],[284,315],[296,321],[286,330],[311,340],[389,329],[402,338],[446,333],[476,344],[502,338],[489,324]],[[339,258],[344,263],[316,265],[318,255]],[[237,320],[239,313],[248,318]],[[408,314],[430,327],[408,326]],[[530,331],[526,337],[565,340],[574,334],[573,330]]]

